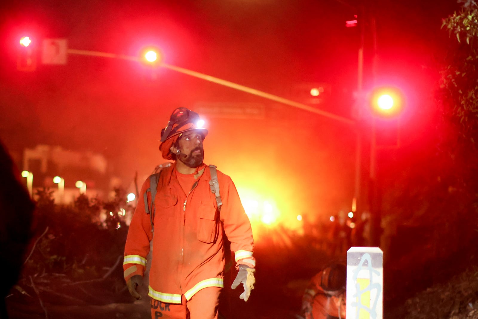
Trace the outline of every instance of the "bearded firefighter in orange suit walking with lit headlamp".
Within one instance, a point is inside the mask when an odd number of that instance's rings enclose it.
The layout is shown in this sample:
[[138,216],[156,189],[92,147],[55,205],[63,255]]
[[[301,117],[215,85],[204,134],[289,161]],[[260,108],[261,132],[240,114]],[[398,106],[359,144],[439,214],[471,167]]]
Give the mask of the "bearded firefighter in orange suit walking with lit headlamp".
[[213,194],[211,168],[203,163],[208,131],[197,126],[198,120],[196,112],[174,110],[161,132],[159,146],[163,158],[174,163],[159,175],[149,214],[141,200],[146,193],[147,203],[152,202],[147,191],[150,179],[145,181],[128,231],[123,269],[136,299],[141,298],[136,289],[142,285],[152,241],[148,296],[153,319],[218,317],[219,293],[224,286],[223,233],[231,242],[239,270],[232,288],[242,284],[240,298],[247,301],[254,287],[256,262],[250,221],[231,178],[217,170],[220,200]]

